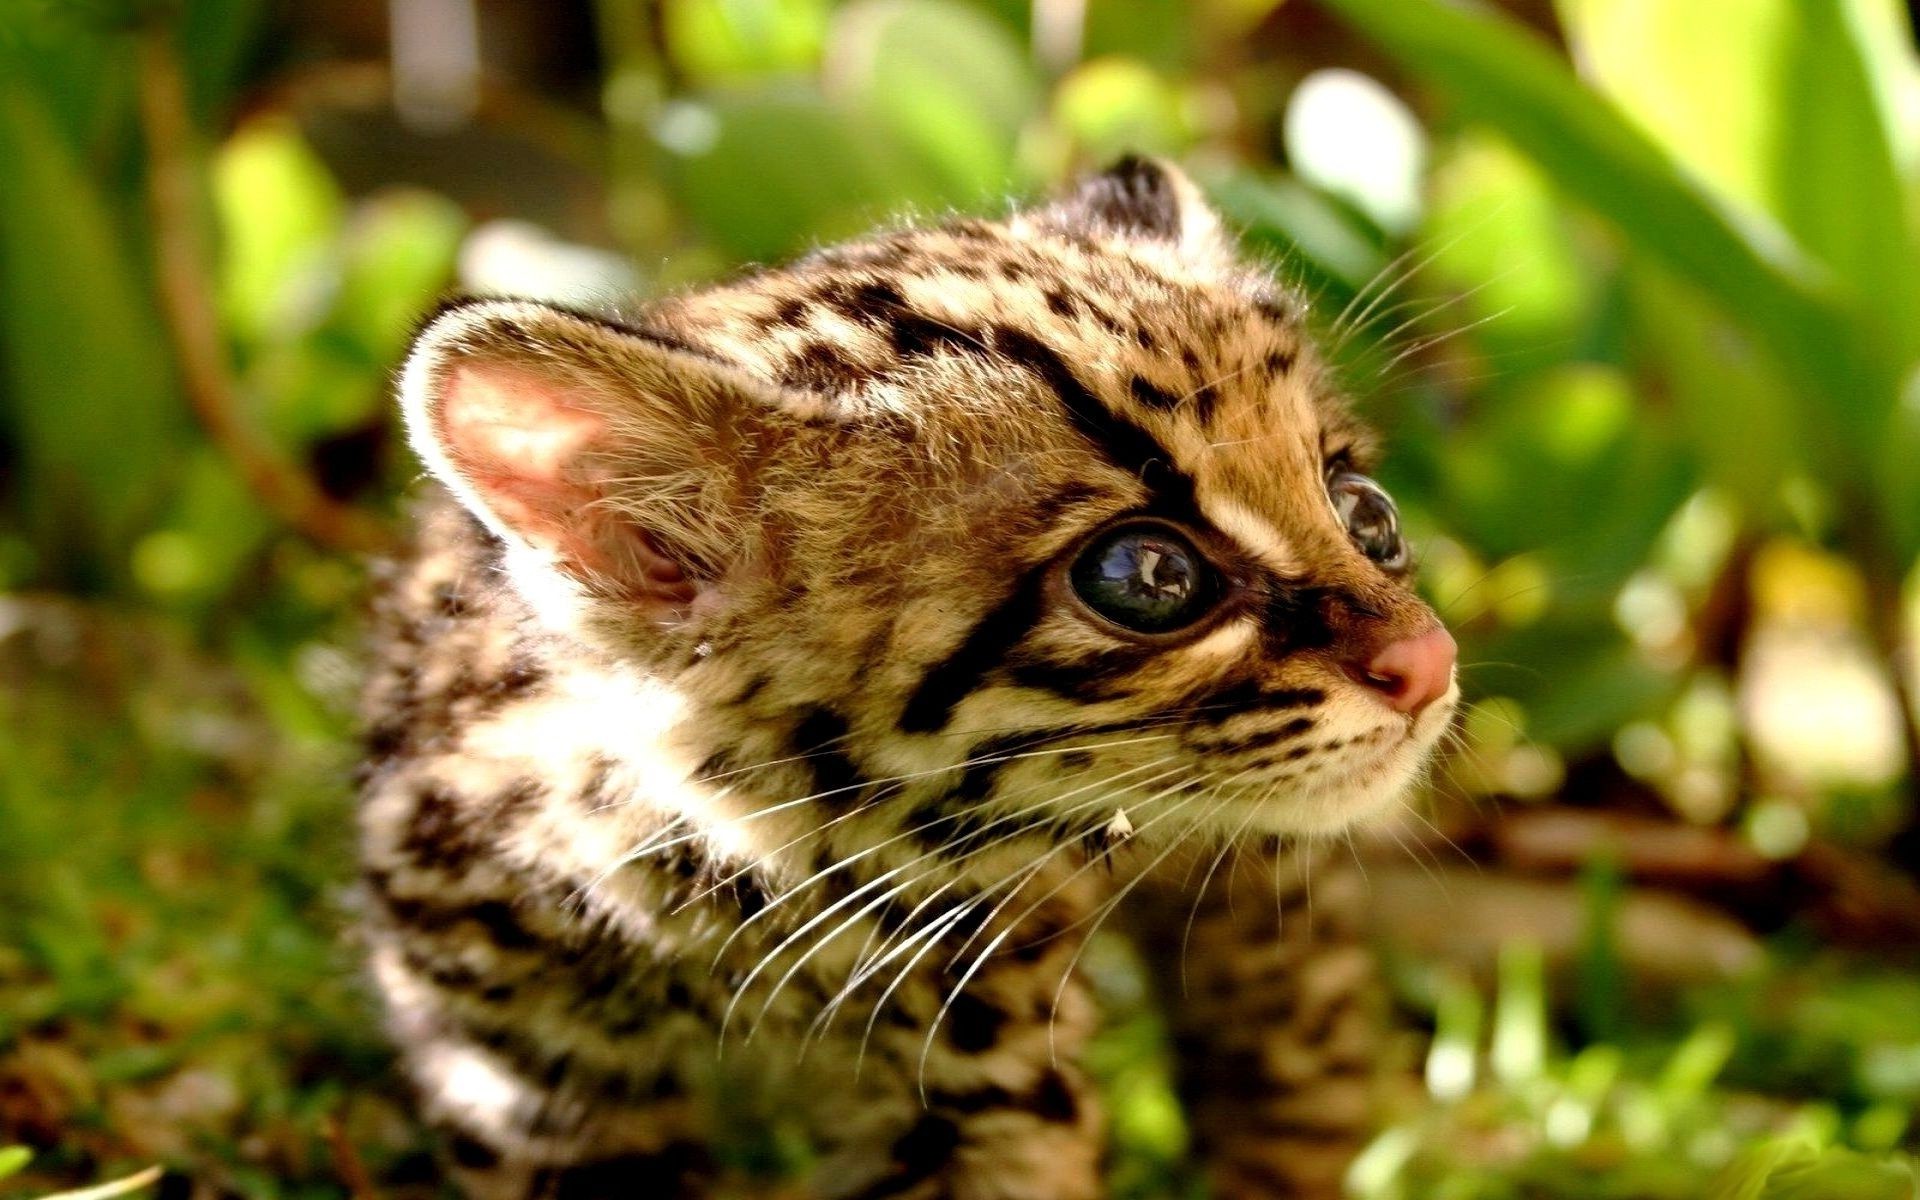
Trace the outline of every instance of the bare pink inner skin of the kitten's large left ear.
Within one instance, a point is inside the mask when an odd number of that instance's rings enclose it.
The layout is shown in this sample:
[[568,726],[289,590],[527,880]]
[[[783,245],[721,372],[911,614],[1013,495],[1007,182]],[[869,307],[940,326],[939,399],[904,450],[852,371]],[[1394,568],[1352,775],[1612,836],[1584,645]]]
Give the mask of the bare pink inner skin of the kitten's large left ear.
[[645,530],[597,505],[591,453],[607,419],[532,371],[465,363],[447,372],[440,444],[486,507],[528,543],[639,601],[687,605],[693,582]]

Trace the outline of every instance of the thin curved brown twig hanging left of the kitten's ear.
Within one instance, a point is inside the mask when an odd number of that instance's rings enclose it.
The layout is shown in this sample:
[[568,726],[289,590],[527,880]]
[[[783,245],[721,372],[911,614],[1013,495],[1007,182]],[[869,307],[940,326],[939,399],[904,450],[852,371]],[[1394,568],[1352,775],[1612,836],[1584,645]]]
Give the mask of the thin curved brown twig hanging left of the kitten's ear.
[[138,90],[159,313],[194,417],[253,495],[288,526],[330,549],[390,551],[394,536],[386,524],[321,492],[240,411],[213,301],[186,77],[169,29],[157,21],[140,35]]

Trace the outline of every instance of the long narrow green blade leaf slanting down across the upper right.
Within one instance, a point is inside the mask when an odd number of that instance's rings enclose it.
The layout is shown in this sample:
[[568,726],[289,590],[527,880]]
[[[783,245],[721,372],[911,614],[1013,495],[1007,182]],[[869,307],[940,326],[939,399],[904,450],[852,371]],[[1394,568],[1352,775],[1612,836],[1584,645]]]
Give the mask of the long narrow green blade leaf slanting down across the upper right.
[[1811,447],[1855,484],[1893,409],[1899,357],[1830,275],[1778,232],[1732,217],[1705,184],[1515,21],[1436,0],[1329,0],[1409,73],[1503,132],[1645,253],[1716,298],[1793,372],[1839,436]]

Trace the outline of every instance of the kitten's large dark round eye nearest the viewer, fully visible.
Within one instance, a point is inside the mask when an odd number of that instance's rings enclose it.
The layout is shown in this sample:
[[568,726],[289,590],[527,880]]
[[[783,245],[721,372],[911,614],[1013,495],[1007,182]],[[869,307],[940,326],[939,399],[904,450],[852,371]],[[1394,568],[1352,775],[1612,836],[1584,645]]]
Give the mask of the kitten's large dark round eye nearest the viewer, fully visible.
[[1073,561],[1069,578],[1089,609],[1139,634],[1190,626],[1219,597],[1213,566],[1164,524],[1125,524],[1102,534]]

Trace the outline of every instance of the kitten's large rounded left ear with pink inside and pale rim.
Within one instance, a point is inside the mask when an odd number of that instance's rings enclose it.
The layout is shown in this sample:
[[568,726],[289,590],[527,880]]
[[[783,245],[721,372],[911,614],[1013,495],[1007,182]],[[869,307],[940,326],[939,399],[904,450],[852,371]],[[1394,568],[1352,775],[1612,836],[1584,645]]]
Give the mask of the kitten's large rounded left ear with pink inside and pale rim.
[[442,309],[399,378],[407,440],[493,534],[588,591],[684,611],[737,555],[774,386],[516,300]]

